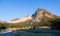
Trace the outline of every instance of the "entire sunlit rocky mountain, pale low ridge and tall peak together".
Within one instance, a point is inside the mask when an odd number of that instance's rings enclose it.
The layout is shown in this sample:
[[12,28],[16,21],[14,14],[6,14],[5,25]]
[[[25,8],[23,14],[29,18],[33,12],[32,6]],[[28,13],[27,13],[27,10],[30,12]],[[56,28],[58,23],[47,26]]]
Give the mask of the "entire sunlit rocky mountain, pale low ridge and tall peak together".
[[49,11],[45,9],[38,8],[34,14],[28,15],[23,18],[12,19],[9,23],[20,23],[25,21],[42,22],[43,20],[55,19],[57,17],[58,16],[51,14]]

